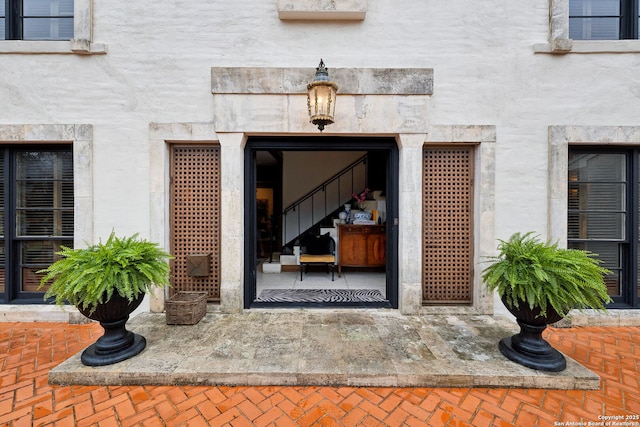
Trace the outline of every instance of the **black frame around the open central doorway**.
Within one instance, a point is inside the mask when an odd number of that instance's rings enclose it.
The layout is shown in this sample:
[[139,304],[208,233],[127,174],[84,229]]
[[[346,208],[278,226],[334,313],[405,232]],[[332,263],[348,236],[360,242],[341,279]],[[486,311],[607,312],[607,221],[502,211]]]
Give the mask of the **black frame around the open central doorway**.
[[[387,302],[353,304],[265,303],[256,300],[256,151],[379,151],[387,156]],[[244,155],[244,308],[370,307],[398,308],[398,194],[399,151],[393,137],[251,136]]]

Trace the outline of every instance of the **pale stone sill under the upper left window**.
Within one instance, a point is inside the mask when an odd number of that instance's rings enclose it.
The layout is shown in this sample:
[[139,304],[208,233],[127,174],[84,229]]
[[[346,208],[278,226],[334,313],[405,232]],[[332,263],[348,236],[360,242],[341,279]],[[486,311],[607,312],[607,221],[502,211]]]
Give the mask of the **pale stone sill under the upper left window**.
[[2,54],[61,54],[61,55],[104,55],[107,45],[91,43],[88,40],[70,41],[0,41],[0,55]]

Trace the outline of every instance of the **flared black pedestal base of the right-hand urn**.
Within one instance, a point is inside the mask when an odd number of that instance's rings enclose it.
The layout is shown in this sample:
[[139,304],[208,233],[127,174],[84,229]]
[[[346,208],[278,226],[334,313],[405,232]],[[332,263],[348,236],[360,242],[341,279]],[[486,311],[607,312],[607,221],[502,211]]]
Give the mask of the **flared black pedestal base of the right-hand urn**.
[[547,325],[529,325],[518,320],[520,333],[500,340],[500,352],[509,360],[539,371],[559,372],[567,361],[542,338]]

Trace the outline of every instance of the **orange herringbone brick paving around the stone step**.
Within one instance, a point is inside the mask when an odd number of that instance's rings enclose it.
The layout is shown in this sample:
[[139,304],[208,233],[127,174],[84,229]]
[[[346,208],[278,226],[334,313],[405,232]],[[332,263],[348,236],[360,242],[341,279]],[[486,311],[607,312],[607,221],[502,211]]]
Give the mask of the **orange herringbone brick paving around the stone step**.
[[97,324],[0,323],[0,425],[640,426],[638,327],[546,333],[601,376],[600,390],[48,384],[49,369],[101,333]]

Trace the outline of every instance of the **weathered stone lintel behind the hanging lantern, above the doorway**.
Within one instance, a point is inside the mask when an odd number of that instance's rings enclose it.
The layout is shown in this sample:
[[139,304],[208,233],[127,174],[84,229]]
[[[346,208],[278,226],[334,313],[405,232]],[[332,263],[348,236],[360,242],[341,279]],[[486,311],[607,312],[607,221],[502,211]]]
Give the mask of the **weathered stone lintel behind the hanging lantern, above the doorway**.
[[[214,67],[217,132],[317,133],[307,115],[314,68]],[[431,68],[329,68],[338,85],[335,123],[325,133],[423,133]]]

